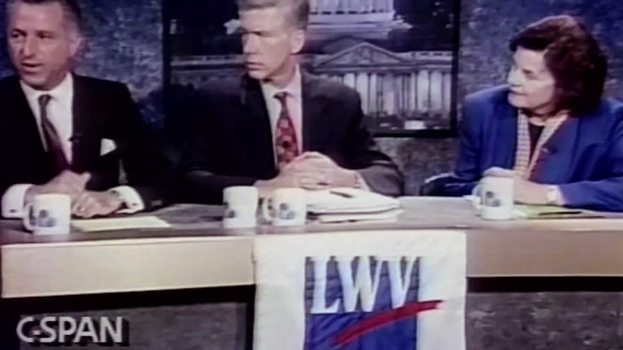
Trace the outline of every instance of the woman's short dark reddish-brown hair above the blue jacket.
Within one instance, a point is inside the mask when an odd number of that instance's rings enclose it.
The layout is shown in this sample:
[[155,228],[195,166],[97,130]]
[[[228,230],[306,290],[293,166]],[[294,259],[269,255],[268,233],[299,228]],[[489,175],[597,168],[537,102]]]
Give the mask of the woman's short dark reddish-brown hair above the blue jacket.
[[552,16],[530,24],[510,41],[517,47],[544,51],[556,80],[556,110],[581,115],[599,105],[608,74],[608,60],[597,39],[579,19]]

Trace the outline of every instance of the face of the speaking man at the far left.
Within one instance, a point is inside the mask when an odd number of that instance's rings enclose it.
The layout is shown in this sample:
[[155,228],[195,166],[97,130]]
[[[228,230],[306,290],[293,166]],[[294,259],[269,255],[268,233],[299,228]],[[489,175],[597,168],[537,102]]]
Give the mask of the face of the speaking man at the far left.
[[38,90],[55,88],[70,72],[78,51],[76,28],[59,3],[17,1],[9,13],[8,46],[22,81]]

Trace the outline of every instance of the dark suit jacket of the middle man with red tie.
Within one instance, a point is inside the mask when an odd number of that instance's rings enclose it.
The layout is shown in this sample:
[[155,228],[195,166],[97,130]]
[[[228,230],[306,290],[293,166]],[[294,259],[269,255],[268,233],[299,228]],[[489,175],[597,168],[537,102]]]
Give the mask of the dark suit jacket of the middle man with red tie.
[[[403,194],[403,175],[364,126],[359,94],[302,72],[302,150],[357,169],[371,190]],[[191,200],[222,203],[223,190],[277,176],[273,136],[259,81],[218,85],[181,110],[186,141],[179,165]]]

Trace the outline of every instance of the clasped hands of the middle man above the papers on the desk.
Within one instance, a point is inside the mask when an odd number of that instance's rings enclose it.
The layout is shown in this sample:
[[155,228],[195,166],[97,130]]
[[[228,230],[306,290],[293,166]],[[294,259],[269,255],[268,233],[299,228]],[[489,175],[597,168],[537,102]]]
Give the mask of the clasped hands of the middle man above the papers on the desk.
[[300,187],[306,190],[355,188],[357,185],[357,172],[339,167],[331,158],[318,152],[303,153],[286,165],[282,172],[293,174]]

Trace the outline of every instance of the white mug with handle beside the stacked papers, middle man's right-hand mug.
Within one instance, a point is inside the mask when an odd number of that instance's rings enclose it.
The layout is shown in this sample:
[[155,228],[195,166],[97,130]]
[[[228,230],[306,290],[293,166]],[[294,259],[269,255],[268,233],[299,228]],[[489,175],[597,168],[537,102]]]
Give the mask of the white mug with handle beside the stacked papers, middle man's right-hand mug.
[[306,192],[301,188],[280,188],[264,199],[261,213],[274,226],[300,226],[307,221]]

